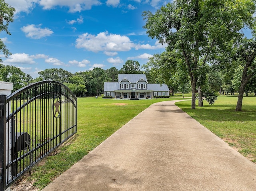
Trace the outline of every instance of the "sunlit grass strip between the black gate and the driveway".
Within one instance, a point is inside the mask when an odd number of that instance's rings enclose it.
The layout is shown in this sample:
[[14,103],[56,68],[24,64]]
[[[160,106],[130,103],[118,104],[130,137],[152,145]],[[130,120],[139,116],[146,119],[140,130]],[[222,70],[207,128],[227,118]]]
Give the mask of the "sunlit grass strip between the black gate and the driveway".
[[174,99],[182,98],[179,96],[146,100],[78,98],[77,134],[32,168],[31,175],[26,176],[27,181],[34,182],[35,187],[43,189],[55,177],[69,169],[152,103]]

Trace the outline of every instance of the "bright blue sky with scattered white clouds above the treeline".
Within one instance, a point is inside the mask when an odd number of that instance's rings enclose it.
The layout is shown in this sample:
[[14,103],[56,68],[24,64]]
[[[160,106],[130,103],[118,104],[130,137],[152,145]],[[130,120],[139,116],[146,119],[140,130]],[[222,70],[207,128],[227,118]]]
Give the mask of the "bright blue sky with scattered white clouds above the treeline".
[[0,38],[12,55],[0,57],[5,65],[19,67],[33,78],[48,68],[71,73],[93,67],[120,69],[128,59],[142,66],[148,57],[165,50],[142,28],[142,12],[155,13],[167,2],[6,0],[16,12],[9,25],[12,35],[2,32]]

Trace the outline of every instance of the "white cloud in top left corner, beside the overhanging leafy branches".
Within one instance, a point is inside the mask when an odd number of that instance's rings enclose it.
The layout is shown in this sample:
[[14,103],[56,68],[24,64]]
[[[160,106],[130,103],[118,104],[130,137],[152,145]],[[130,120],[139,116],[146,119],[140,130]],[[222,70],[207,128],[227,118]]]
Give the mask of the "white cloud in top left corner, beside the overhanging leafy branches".
[[30,12],[39,0],[8,0],[7,3],[15,8],[15,14],[19,12]]

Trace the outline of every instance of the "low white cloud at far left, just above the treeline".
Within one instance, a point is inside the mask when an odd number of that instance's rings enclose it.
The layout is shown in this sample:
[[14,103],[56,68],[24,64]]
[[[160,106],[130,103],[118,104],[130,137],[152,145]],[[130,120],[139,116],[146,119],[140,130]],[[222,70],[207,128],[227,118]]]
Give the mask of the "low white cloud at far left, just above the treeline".
[[34,64],[35,61],[28,54],[25,53],[16,53],[10,55],[6,60],[3,61],[6,65],[14,64]]

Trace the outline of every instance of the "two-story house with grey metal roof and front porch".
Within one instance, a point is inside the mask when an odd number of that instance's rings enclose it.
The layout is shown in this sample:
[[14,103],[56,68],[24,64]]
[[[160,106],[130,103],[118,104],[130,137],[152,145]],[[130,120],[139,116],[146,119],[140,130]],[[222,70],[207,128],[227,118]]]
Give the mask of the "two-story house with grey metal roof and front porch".
[[105,82],[104,95],[114,98],[143,99],[168,96],[166,84],[149,84],[145,74],[118,74],[118,82]]

